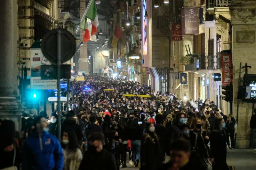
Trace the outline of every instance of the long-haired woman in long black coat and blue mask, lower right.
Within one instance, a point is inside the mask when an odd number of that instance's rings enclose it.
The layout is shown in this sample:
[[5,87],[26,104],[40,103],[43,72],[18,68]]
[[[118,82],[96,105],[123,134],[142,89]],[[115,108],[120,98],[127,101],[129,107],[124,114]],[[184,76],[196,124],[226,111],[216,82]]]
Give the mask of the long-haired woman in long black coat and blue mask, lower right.
[[217,118],[210,136],[212,170],[228,170],[227,135],[224,119]]

